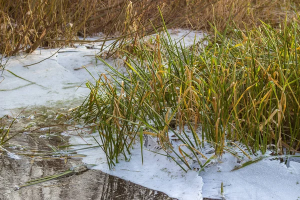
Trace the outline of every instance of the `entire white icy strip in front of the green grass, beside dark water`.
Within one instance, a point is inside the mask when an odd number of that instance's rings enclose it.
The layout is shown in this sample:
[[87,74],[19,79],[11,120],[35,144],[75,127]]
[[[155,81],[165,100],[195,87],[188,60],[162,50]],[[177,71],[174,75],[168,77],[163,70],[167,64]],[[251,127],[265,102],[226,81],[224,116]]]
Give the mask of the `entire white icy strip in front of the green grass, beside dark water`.
[[[91,144],[96,144],[94,138],[100,141],[97,132],[80,136]],[[79,144],[82,143],[82,138],[72,135],[69,142]],[[174,147],[177,148],[178,145]],[[120,159],[111,170],[108,168],[106,156],[101,149],[86,149],[80,153],[87,155],[82,160],[84,163],[96,164],[94,169],[162,191],[178,199],[202,199],[202,197],[220,199],[222,182],[225,199],[298,200],[300,198],[300,163],[296,161],[289,161],[289,167],[286,167],[279,160],[264,158],[232,171],[235,166],[239,165],[239,162],[236,157],[225,152],[219,162],[212,162],[198,175],[196,170],[184,172],[172,159],[161,155],[165,154],[162,149],[156,151],[161,154],[147,149],[143,148],[142,165],[140,145],[137,141],[131,150],[130,161]],[[154,151],[154,149],[150,150]],[[209,151],[210,148],[207,146],[202,153],[209,157],[212,155]],[[258,156],[261,155],[256,155]]]

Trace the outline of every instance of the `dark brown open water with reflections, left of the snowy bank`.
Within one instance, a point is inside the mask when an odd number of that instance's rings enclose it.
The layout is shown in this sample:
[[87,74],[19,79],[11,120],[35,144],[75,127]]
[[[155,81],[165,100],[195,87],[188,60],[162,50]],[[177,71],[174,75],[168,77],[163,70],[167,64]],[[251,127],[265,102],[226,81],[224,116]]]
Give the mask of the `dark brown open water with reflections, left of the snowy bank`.
[[[67,136],[61,136],[60,130],[66,127],[51,127],[50,130],[41,131],[38,127],[55,125],[61,121],[48,119],[49,113],[46,111],[28,111],[27,115],[34,113],[34,127],[30,127],[32,132],[21,131],[27,126],[28,117],[18,117],[10,130],[10,136],[19,132],[10,139],[3,147],[13,153],[30,153],[32,157],[18,155],[20,159],[14,159],[0,150],[0,200],[85,200],[85,199],[175,199],[168,197],[165,193],[152,190],[141,185],[123,180],[121,178],[106,174],[100,170],[84,169],[71,175],[58,179],[41,182],[15,190],[15,186],[25,184],[26,181],[37,178],[59,174],[72,166],[82,164],[81,159],[41,159],[34,150],[51,151],[49,145],[58,148],[59,145],[66,145]],[[50,110],[51,111],[51,110]],[[26,113],[25,113],[26,114]],[[5,117],[5,121],[0,121],[0,125],[10,124]],[[35,131],[33,131],[36,129]],[[58,136],[39,137],[43,134],[56,134]],[[16,148],[12,148],[12,147]],[[22,147],[23,148],[22,148]],[[63,148],[59,147],[59,150]],[[99,149],[100,150],[100,149]],[[210,198],[203,198],[209,200]],[[192,200],[192,199],[191,199]]]

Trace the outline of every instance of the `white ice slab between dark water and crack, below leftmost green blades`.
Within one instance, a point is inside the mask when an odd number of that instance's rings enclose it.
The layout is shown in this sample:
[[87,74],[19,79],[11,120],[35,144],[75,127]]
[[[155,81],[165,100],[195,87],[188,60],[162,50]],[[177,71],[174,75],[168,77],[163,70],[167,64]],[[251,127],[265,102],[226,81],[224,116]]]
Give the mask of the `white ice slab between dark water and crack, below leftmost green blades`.
[[[87,143],[96,144],[92,136],[100,141],[96,133],[83,138]],[[82,139],[78,136],[71,136],[69,141],[71,143],[82,143]],[[93,167],[94,169],[100,169],[103,172],[130,180],[136,184],[165,192],[169,196],[178,199],[202,199],[202,178],[197,175],[196,171],[190,170],[186,173],[174,161],[167,159],[164,155],[147,150],[143,150],[142,164],[138,143],[132,149],[130,161],[120,160],[120,163],[117,163],[112,170],[109,170],[106,156],[101,149],[86,149],[79,153],[87,155],[83,158],[83,162],[97,164]]]

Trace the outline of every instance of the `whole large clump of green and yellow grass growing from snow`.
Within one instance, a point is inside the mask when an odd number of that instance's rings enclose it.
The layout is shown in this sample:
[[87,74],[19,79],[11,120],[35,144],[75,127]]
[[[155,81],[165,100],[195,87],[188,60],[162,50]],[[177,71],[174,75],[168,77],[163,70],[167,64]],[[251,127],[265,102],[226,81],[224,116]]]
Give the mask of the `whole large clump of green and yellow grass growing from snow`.
[[[278,29],[264,22],[245,30],[227,23],[223,32],[212,26],[212,35],[189,47],[172,41],[164,26],[152,43],[124,52],[126,73],[98,57],[111,71],[86,83],[90,94],[75,118],[94,124],[110,167],[120,154],[129,160],[143,134],[156,137],[184,170],[191,168],[188,157],[202,169],[224,151],[237,156],[232,145],[247,157],[299,152],[297,20],[285,18]],[[170,133],[180,141],[178,151]],[[201,153],[204,141],[214,147],[210,158]]]

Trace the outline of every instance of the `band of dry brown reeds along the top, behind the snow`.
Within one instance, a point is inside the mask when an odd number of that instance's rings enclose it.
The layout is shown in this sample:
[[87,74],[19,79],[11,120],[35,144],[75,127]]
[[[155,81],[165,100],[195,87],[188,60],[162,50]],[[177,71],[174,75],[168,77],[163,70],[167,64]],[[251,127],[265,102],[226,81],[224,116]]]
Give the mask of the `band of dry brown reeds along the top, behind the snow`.
[[221,30],[230,14],[238,27],[259,19],[279,25],[297,0],[0,0],[0,53],[70,45],[97,32],[135,37],[161,26]]

